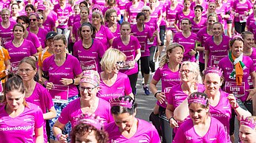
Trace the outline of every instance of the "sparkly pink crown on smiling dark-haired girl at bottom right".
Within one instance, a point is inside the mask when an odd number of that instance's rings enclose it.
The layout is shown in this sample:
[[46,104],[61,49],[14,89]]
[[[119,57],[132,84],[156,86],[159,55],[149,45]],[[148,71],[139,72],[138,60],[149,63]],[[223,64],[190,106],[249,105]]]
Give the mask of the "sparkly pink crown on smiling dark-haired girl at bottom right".
[[204,93],[194,92],[188,97],[188,104],[192,102],[207,105],[208,99],[206,98],[206,96],[204,96]]

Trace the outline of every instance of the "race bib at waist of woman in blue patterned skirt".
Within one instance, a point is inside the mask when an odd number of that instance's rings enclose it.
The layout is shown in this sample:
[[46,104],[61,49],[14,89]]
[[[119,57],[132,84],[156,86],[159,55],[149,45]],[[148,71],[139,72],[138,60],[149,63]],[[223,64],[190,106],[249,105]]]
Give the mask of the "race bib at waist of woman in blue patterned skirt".
[[49,89],[53,102],[68,103],[68,90],[69,86],[54,85],[53,88]]

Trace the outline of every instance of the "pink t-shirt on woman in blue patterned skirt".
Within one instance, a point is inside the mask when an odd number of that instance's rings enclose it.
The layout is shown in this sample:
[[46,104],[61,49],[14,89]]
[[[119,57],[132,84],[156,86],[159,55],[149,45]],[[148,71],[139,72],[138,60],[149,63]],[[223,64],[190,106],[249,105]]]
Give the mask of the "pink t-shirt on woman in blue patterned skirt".
[[[82,73],[79,60],[77,60],[76,57],[73,57],[73,55],[67,54],[66,60],[62,66],[57,66],[54,59],[55,55],[51,55],[43,62],[43,71],[47,71],[49,73],[50,83],[62,85],[60,82],[62,78],[74,79],[76,75]],[[78,90],[75,85],[70,84],[68,87],[68,97],[73,97],[78,94]]]

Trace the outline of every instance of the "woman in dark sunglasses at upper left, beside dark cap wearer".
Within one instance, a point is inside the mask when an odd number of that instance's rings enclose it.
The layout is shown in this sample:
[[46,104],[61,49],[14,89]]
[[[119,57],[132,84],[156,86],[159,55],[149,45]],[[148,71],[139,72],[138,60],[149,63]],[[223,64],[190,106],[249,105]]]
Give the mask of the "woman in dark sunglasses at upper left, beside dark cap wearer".
[[45,37],[47,35],[47,30],[39,27],[39,15],[37,13],[30,13],[29,20],[30,27],[28,27],[27,31],[37,35],[37,38],[39,38],[39,41],[41,43],[42,49],[45,49]]

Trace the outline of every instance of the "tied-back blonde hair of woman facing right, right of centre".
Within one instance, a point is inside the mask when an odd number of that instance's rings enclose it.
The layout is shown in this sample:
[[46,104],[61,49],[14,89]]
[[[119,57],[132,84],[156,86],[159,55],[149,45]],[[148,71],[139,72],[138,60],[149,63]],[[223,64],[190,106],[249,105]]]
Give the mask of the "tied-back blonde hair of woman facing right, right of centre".
[[165,65],[165,63],[168,63],[169,61],[169,57],[168,57],[168,52],[172,52],[172,49],[176,48],[176,47],[180,47],[181,49],[183,49],[184,52],[184,47],[182,45],[180,45],[180,43],[171,43],[167,48],[166,48],[166,52],[165,54],[161,57],[159,66],[163,67]]

